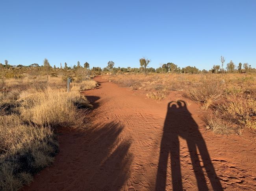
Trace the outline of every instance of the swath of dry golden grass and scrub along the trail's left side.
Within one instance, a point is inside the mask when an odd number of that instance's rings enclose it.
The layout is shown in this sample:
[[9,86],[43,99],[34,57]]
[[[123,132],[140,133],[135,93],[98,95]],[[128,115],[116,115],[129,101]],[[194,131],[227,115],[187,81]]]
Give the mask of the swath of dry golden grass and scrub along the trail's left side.
[[[7,75],[8,76],[8,75]],[[58,152],[54,129],[84,126],[92,107],[80,91],[96,87],[87,79],[67,93],[62,76],[0,79],[0,190],[16,191],[49,166]]]

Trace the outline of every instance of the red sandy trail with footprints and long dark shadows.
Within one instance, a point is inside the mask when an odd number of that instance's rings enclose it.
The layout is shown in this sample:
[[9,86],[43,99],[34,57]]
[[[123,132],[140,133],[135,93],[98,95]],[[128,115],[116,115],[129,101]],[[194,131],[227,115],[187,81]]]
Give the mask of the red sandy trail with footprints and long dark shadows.
[[[92,128],[62,130],[60,153],[24,190],[256,190],[255,139],[206,131],[196,104],[95,80]],[[169,107],[168,107],[169,106]]]

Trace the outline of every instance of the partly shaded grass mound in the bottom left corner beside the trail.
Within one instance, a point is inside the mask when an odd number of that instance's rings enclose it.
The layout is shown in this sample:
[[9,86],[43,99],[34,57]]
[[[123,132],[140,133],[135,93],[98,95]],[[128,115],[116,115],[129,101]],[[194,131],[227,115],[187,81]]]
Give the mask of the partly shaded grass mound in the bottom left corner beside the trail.
[[19,190],[50,165],[57,152],[50,127],[24,124],[18,115],[0,116],[0,190]]

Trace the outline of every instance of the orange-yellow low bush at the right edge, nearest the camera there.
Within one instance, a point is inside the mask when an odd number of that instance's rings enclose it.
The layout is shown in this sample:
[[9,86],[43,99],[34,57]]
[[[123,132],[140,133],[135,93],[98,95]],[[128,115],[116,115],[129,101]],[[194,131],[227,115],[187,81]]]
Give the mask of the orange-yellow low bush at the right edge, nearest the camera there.
[[206,115],[206,127],[220,134],[241,134],[240,130],[245,127],[256,133],[255,106],[256,99],[251,96],[228,99],[217,104],[212,115]]

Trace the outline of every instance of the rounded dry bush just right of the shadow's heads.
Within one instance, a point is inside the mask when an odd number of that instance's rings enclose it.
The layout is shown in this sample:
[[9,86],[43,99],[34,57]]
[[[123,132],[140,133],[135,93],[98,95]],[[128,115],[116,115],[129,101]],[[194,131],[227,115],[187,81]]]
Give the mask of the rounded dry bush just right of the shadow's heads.
[[186,98],[195,102],[202,103],[202,108],[208,109],[213,103],[221,99],[223,94],[223,85],[217,80],[207,81],[197,87],[191,87],[187,93],[184,93]]

